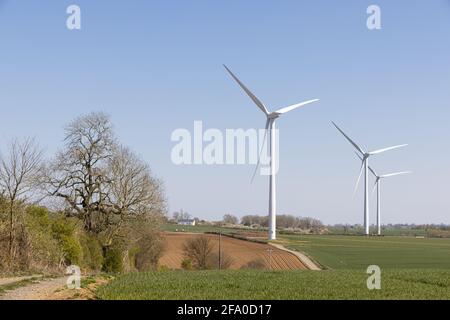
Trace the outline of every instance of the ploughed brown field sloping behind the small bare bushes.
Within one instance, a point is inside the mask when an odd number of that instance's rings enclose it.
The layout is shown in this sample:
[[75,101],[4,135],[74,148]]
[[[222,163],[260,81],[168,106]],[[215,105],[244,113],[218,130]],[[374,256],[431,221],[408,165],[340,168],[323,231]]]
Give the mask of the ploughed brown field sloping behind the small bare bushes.
[[[166,250],[159,260],[160,265],[170,269],[181,269],[183,261],[183,244],[188,239],[199,236],[205,236],[211,239],[216,252],[219,251],[219,236],[215,234],[198,234],[198,233],[177,233],[165,232],[163,234],[166,240]],[[296,270],[306,269],[304,264],[292,253],[277,249],[271,245],[239,240],[222,236],[222,252],[233,258],[230,269],[240,269],[248,262],[256,259],[265,261],[267,268],[269,267],[269,252],[271,249],[271,266],[274,270]]]

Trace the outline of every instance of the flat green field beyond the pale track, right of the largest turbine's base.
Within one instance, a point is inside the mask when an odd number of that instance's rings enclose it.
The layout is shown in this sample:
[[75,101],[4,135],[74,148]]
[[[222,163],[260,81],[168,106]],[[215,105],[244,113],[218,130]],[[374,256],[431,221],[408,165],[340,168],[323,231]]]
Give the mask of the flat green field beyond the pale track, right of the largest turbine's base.
[[302,251],[330,269],[450,270],[450,239],[414,237],[362,237],[281,235],[278,243]]

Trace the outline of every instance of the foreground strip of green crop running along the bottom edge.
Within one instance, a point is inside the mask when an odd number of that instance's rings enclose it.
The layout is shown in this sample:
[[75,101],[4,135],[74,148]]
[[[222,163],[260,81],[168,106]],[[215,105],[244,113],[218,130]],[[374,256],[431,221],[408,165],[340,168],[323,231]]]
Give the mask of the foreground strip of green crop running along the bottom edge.
[[97,298],[116,299],[450,299],[450,270],[389,270],[381,290],[367,274],[325,271],[165,271],[119,276]]

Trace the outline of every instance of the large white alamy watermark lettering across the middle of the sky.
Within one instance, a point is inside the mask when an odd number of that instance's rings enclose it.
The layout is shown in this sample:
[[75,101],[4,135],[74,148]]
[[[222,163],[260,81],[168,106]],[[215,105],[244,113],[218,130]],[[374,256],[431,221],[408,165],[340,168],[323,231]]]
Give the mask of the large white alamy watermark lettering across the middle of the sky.
[[[278,172],[278,130],[275,136],[275,173]],[[194,121],[193,130],[179,128],[172,132],[171,150],[175,165],[260,165],[261,175],[270,175],[271,157],[266,129],[204,130],[202,121]]]

